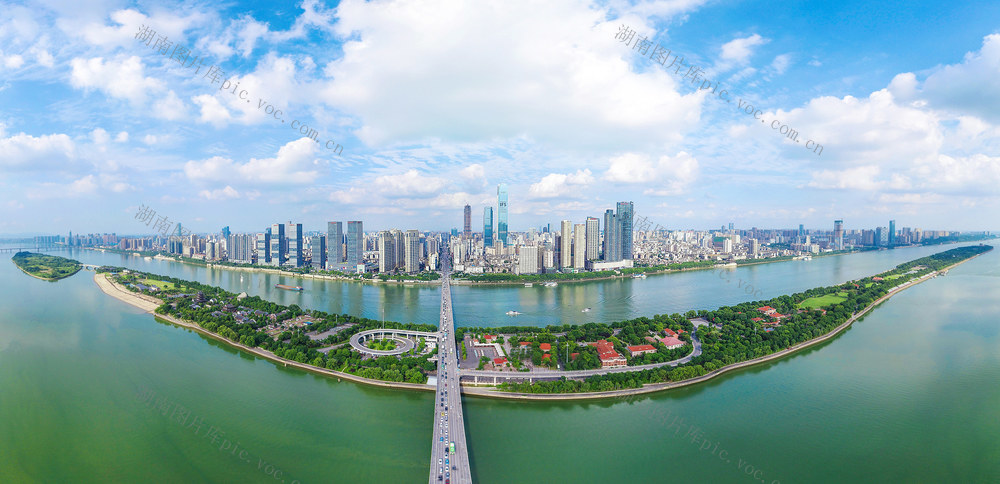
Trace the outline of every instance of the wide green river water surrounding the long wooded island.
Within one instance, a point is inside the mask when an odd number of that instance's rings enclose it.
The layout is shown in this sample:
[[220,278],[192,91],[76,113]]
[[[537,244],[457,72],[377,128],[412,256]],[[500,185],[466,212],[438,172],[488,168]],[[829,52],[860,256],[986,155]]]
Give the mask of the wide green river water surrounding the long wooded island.
[[[747,284],[758,298],[835,284],[946,248],[452,293],[460,326],[611,321],[757,299]],[[282,304],[370,318],[384,308],[387,320],[437,322],[436,286],[54,253]],[[430,393],[275,366],[159,323],[104,295],[92,275],[50,283],[0,263],[0,482],[426,480]],[[828,343],[706,384],[631,401],[467,398],[473,478],[996,482],[998,355],[1000,256],[992,251],[893,297]],[[143,390],[149,406],[137,398]]]

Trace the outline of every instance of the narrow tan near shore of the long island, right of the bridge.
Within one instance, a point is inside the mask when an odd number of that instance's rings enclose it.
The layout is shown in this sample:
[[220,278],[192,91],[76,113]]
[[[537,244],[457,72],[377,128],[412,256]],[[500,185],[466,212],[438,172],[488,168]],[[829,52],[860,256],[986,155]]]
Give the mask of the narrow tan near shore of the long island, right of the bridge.
[[720,375],[723,375],[726,372],[730,372],[730,371],[734,371],[734,370],[739,370],[739,369],[750,367],[750,366],[754,366],[754,365],[759,365],[759,364],[762,364],[762,363],[766,363],[768,361],[777,360],[779,358],[784,358],[785,356],[789,356],[789,355],[791,355],[793,353],[796,353],[798,351],[801,351],[801,350],[804,350],[806,348],[809,348],[810,346],[814,346],[814,345],[817,345],[817,344],[822,343],[824,341],[827,341],[827,340],[829,340],[829,339],[831,339],[831,338],[839,335],[841,332],[843,332],[847,328],[849,328],[855,321],[857,321],[859,318],[861,318],[862,316],[864,316],[865,314],[867,314],[868,312],[870,312],[872,309],[874,309],[875,306],[878,306],[879,304],[881,304],[882,302],[888,300],[889,298],[891,298],[892,296],[898,294],[899,292],[901,292],[901,291],[903,291],[905,289],[908,289],[910,287],[913,287],[913,286],[915,286],[917,284],[920,284],[921,282],[924,282],[924,281],[927,281],[929,279],[932,279],[933,277],[935,277],[935,276],[937,276],[937,275],[939,275],[941,273],[945,273],[945,272],[951,270],[954,267],[957,267],[957,266],[962,265],[962,264],[964,264],[964,263],[966,263],[966,262],[968,262],[968,261],[970,261],[972,259],[975,259],[976,257],[979,257],[979,255],[982,255],[982,254],[978,254],[978,255],[972,256],[972,257],[970,257],[968,259],[965,259],[965,260],[963,260],[961,262],[957,262],[957,263],[952,264],[952,265],[950,265],[948,267],[945,267],[944,269],[941,269],[939,271],[934,271],[934,272],[925,274],[924,276],[920,277],[919,279],[917,279],[915,281],[909,281],[909,282],[906,282],[906,283],[904,283],[902,285],[899,285],[897,287],[892,288],[891,290],[889,290],[889,292],[886,295],[884,295],[884,296],[878,298],[877,300],[873,301],[867,307],[865,307],[864,309],[862,309],[858,313],[856,313],[853,316],[851,316],[847,321],[841,323],[839,326],[837,326],[836,328],[834,328],[833,330],[831,330],[830,332],[828,332],[828,333],[826,333],[826,334],[824,334],[822,336],[818,336],[818,337],[813,338],[813,339],[808,340],[808,341],[803,341],[802,343],[793,345],[793,346],[791,346],[789,348],[785,348],[785,349],[783,349],[781,351],[777,351],[775,353],[771,353],[770,355],[761,356],[759,358],[754,358],[752,360],[746,360],[746,361],[741,361],[741,362],[733,363],[731,365],[726,365],[726,366],[724,366],[722,368],[713,370],[713,371],[711,371],[709,373],[706,373],[706,374],[704,374],[702,376],[699,376],[699,377],[689,378],[687,380],[681,380],[681,381],[677,381],[677,382],[652,383],[652,384],[643,385],[640,388],[628,388],[628,389],[622,389],[622,390],[613,390],[613,391],[610,391],[610,392],[587,392],[587,393],[514,393],[514,392],[501,392],[499,390],[494,390],[494,389],[484,388],[484,387],[479,387],[479,386],[472,386],[472,385],[466,386],[465,384],[463,384],[462,385],[462,393],[469,394],[469,395],[480,396],[480,397],[484,397],[484,398],[496,398],[496,399],[507,399],[507,400],[593,400],[593,399],[603,399],[603,398],[621,398],[621,397],[627,397],[627,396],[633,396],[633,395],[641,395],[641,394],[644,394],[644,393],[654,393],[654,392],[660,392],[660,391],[664,391],[664,390],[670,390],[672,388],[679,388],[679,387],[683,387],[683,386],[688,386],[688,385],[694,385],[694,384],[697,384],[697,383],[702,383],[702,382],[711,380],[712,378],[715,378],[715,377],[718,377]]

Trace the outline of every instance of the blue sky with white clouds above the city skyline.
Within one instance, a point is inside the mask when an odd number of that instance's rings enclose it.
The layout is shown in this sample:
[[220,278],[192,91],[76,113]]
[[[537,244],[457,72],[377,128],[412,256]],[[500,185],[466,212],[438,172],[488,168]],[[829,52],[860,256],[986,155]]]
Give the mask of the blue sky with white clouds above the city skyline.
[[833,3],[5,2],[0,234],[1000,229],[1000,3]]

